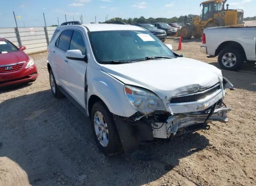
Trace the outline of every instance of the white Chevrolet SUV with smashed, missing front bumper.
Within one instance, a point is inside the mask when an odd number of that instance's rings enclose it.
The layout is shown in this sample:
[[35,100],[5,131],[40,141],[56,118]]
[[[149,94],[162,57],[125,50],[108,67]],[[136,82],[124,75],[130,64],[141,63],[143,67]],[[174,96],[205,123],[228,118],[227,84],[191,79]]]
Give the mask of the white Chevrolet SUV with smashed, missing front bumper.
[[106,155],[140,154],[139,145],[172,138],[208,121],[227,122],[232,84],[218,68],[172,52],[141,27],[67,22],[48,46],[52,93],[90,117]]

